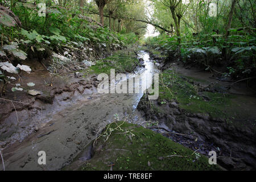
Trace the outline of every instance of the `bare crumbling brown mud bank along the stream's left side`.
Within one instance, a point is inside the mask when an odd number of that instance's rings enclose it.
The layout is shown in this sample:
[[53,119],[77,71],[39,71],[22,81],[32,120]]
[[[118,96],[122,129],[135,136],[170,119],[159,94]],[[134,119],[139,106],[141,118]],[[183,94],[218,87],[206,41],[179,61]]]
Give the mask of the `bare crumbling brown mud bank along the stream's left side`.
[[[15,101],[1,100],[1,146],[4,148],[16,140],[21,142],[28,135],[37,132],[51,120],[51,115],[76,102],[89,100],[96,93],[99,81],[97,77],[75,78],[69,75],[65,78],[56,78],[55,86],[40,87],[42,94],[30,96],[18,93]],[[25,79],[26,76],[23,77]],[[50,79],[50,78],[48,78]],[[35,78],[26,79],[27,82]]]

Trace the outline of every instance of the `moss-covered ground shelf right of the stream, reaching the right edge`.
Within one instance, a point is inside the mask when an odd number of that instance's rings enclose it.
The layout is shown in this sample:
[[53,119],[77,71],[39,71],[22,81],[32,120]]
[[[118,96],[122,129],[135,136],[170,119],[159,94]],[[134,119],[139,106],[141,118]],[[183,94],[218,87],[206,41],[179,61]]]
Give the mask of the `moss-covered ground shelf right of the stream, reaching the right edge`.
[[[188,113],[201,113],[213,118],[225,119],[237,127],[248,126],[256,130],[253,113],[250,113],[250,107],[244,106],[248,98],[236,96],[234,94],[202,91],[204,86],[195,83],[208,85],[209,82],[192,77],[185,77],[168,69],[159,75],[159,98],[160,104],[167,104],[175,101],[181,109],[187,110]],[[215,85],[214,88],[218,88]],[[221,91],[221,90],[220,90]],[[157,105],[153,106],[156,113],[161,112]]]

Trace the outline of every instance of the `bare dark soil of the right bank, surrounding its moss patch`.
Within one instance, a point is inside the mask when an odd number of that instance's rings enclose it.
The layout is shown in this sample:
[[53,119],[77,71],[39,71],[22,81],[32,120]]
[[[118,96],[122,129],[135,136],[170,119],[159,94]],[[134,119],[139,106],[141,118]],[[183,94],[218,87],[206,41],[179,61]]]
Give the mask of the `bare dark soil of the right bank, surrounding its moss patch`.
[[[185,77],[185,80],[187,78],[196,80],[192,82],[193,85],[207,87],[216,81],[212,79],[213,73],[202,72],[198,68],[185,69],[174,62],[170,69],[175,69],[175,72],[180,77]],[[165,101],[166,104],[161,104],[160,99],[153,101],[152,105],[157,109],[151,110],[149,102],[146,102],[146,96],[139,102],[138,110],[142,111],[147,121],[157,121],[158,127],[165,129],[156,127],[153,130],[175,142],[205,155],[208,155],[211,150],[216,151],[217,163],[222,167],[229,170],[255,170],[255,93],[246,88],[243,82],[226,89],[230,84],[232,82],[217,81],[216,87],[208,91],[223,92],[234,96],[230,98],[230,106],[225,109],[225,113],[231,118],[221,117],[221,115],[212,117],[200,112],[193,113],[183,109],[177,100]]]

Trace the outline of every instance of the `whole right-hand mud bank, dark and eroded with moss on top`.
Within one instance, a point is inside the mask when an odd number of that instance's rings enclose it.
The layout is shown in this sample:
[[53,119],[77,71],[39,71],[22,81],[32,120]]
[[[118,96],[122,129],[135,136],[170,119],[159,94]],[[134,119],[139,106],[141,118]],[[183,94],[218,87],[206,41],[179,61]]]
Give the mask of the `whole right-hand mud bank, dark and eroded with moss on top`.
[[230,94],[245,92],[213,84],[209,73],[200,73],[199,80],[198,70],[183,71],[174,65],[164,72],[158,100],[143,96],[139,102],[146,120],[158,125],[149,128],[201,154],[216,151],[217,163],[226,169],[254,170],[255,97]]

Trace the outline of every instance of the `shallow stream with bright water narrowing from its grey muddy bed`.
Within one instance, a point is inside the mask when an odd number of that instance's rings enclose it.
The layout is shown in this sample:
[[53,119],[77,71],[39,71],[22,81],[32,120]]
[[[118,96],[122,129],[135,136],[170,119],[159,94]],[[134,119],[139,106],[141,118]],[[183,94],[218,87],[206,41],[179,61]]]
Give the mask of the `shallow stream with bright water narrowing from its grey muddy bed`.
[[[138,53],[144,68],[135,77],[152,78],[156,67],[147,52]],[[129,79],[134,79],[130,77]],[[135,81],[134,88],[141,83]],[[127,80],[126,80],[127,81]],[[151,84],[147,85],[150,86]],[[137,88],[138,89],[138,88]],[[126,94],[90,94],[89,99],[69,106],[48,116],[50,121],[22,142],[16,142],[4,151],[6,170],[59,170],[72,160],[96,137],[101,129],[113,119],[143,123],[136,109],[143,91]],[[46,152],[46,164],[38,164],[38,152]],[[2,166],[1,166],[2,168]]]

